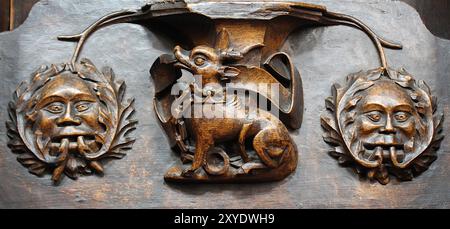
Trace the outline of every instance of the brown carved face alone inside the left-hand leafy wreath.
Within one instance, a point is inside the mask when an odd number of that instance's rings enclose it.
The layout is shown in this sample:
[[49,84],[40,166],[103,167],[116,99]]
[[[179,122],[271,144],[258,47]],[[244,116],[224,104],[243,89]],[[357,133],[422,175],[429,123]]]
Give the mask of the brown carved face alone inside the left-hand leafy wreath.
[[[57,155],[64,139],[69,142],[69,151],[77,156],[101,148],[106,133],[101,120],[108,111],[92,86],[95,85],[66,72],[42,88],[35,113],[28,117],[36,145],[44,155]],[[100,118],[100,114],[105,117]]]

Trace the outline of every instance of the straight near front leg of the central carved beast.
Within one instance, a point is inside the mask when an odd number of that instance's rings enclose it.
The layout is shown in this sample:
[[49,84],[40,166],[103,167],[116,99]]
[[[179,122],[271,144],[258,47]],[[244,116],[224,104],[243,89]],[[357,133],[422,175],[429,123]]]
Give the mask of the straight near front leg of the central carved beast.
[[214,146],[214,140],[209,136],[198,136],[195,144],[194,161],[190,168],[183,171],[181,174],[184,177],[191,177],[194,173],[204,165],[206,153]]

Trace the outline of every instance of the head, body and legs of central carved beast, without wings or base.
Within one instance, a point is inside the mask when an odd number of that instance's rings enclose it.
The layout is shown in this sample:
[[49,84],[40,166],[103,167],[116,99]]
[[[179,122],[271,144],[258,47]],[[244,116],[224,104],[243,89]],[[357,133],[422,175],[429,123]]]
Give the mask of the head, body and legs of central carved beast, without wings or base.
[[[243,52],[231,49],[228,49],[227,52],[208,46],[197,46],[188,53],[177,46],[174,49],[177,60],[175,66],[191,72],[196,82],[200,81],[201,77],[203,84],[220,85],[221,82],[230,78],[240,77],[239,68],[223,65],[224,60],[240,59],[246,52],[257,47],[260,47],[260,45],[248,47]],[[191,88],[197,87],[194,85],[196,84],[192,84]],[[221,91],[205,88],[201,93],[211,96],[223,92],[224,89],[220,87],[218,90]],[[282,179],[295,170],[297,165],[295,143],[289,136],[287,128],[277,117],[262,109],[257,109],[257,115],[251,117],[245,107],[241,106],[237,96],[234,96],[231,102],[225,102],[214,107],[219,109],[218,113],[221,114],[233,110],[235,116],[192,117],[186,120],[189,134],[195,139],[196,144],[193,163],[190,168],[183,171],[182,176],[190,177],[194,175],[205,164],[207,152],[217,143],[233,140],[239,144],[239,153],[245,163],[241,167],[244,173],[249,173],[257,168],[275,169],[283,167],[282,172],[273,174],[273,179]],[[245,151],[245,141],[250,137],[253,137],[253,149],[262,163],[252,161]]]

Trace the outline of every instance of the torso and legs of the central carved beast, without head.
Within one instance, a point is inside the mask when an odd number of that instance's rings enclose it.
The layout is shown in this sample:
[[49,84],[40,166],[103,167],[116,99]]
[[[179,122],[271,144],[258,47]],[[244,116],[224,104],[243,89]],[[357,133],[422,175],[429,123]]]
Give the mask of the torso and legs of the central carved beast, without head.
[[[257,109],[258,114],[252,114],[242,106],[237,96],[229,102],[214,104],[214,109],[218,114],[225,116],[185,119],[188,133],[196,144],[191,168],[184,171],[183,175],[192,175],[204,165],[205,155],[209,150],[218,143],[228,141],[238,143],[239,153],[245,163],[242,166],[244,173],[249,173],[252,169],[274,169],[283,163],[293,162],[294,166],[290,169],[295,169],[297,160],[295,143],[284,124],[273,114],[262,109]],[[232,117],[226,116],[230,111],[234,111]],[[194,106],[191,106],[190,112],[195,112]],[[248,156],[245,141],[249,138],[253,138],[253,149],[262,163],[255,163],[255,160]]]

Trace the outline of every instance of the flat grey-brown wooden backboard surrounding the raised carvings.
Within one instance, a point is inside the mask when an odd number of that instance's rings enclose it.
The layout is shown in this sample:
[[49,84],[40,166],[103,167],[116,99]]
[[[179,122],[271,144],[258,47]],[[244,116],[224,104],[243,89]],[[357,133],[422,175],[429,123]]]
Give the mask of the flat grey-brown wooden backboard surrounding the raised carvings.
[[[72,43],[56,36],[80,32],[111,11],[137,8],[145,1],[49,0],[36,4],[19,29],[0,34],[0,121],[19,82],[29,79],[41,64],[69,61]],[[450,109],[450,41],[436,38],[417,12],[400,2],[329,0],[329,10],[360,18],[383,37],[404,45],[387,51],[393,68],[405,67],[426,80]],[[176,45],[158,32],[121,24],[101,29],[86,43],[81,57],[98,67],[110,66],[126,80],[127,96],[136,98],[139,126],[133,150],[122,160],[105,165],[105,176],[62,180],[29,174],[6,147],[6,127],[0,126],[0,208],[449,208],[450,118],[437,161],[412,182],[382,186],[360,179],[340,167],[322,140],[320,114],[335,82],[359,70],[378,66],[378,57],[364,33],[346,27],[309,28],[293,34],[283,47],[291,53],[303,78],[304,118],[291,133],[299,150],[296,172],[280,182],[261,184],[168,184],[165,171],[179,158],[171,150],[153,113],[151,63]],[[7,48],[5,48],[7,47]]]

